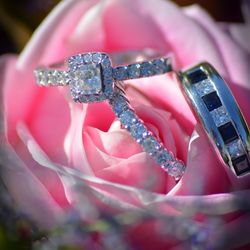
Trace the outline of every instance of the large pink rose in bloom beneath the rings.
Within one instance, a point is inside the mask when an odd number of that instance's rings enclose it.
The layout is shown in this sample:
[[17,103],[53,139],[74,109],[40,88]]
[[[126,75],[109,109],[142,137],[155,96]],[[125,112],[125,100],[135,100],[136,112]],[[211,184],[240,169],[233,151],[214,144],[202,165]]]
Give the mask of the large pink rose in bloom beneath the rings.
[[[9,143],[1,146],[2,176],[20,208],[41,228],[61,223],[72,207],[81,219],[94,219],[92,203],[105,205],[111,215],[153,208],[154,216],[192,221],[201,214],[200,223],[213,232],[205,237],[209,246],[231,249],[250,243],[237,230],[241,218],[223,216],[249,209],[249,204],[234,203],[247,197],[236,191],[250,188],[250,177],[236,179],[221,165],[174,73],[130,81],[126,92],[148,128],[186,163],[177,185],[120,127],[107,103],[76,104],[67,88],[40,88],[33,76],[38,65],[77,53],[152,48],[173,54],[178,69],[204,60],[213,64],[249,124],[250,50],[240,36],[250,36],[247,25],[218,24],[199,6],[181,9],[162,0],[62,1],[21,55],[0,61],[2,134]],[[220,223],[213,223],[211,218],[219,215]],[[136,249],[189,249],[192,232],[186,238],[177,231],[164,233],[160,229],[166,225],[157,216],[130,226],[127,240]]]

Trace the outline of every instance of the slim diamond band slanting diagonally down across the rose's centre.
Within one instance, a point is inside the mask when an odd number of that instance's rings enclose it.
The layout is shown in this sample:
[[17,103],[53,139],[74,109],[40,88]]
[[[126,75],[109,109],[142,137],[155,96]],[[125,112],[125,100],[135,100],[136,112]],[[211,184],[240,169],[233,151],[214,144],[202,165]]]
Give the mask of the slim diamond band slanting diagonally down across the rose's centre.
[[142,146],[143,150],[151,155],[169,175],[179,180],[185,171],[183,162],[176,160],[173,154],[166,150],[162,143],[146,128],[143,121],[132,110],[122,92],[116,91],[110,103],[123,126]]

